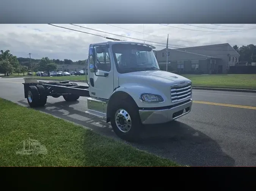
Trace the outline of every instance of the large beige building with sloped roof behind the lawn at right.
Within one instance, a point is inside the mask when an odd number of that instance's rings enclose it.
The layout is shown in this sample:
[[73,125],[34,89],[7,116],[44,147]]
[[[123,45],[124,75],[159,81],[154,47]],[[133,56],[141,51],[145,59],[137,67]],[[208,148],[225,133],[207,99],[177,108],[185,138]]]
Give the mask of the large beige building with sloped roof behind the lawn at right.
[[[159,67],[166,70],[166,49],[155,52]],[[240,55],[229,43],[168,49],[168,68],[180,73],[225,74]],[[169,70],[169,69],[168,69]]]

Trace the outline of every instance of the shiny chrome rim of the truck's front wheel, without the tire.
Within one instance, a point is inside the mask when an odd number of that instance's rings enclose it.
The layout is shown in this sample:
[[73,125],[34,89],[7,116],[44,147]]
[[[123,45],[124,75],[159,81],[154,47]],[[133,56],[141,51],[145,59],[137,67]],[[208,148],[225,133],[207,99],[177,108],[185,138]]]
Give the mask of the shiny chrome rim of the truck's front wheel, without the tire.
[[132,127],[132,119],[129,113],[124,109],[118,109],[116,111],[115,122],[118,129],[122,132],[128,132]]

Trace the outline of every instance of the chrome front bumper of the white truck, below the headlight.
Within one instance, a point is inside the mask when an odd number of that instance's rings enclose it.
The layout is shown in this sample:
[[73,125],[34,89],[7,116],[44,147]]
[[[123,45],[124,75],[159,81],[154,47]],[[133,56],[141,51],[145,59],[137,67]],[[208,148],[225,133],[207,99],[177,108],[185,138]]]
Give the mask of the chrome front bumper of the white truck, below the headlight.
[[[139,114],[140,114],[140,119],[142,124],[166,123],[174,119],[178,119],[179,117],[184,116],[185,114],[188,114],[191,111],[191,108],[192,108],[192,99],[190,99],[189,102],[186,102],[182,105],[175,106],[170,109],[160,109],[160,110],[140,109]],[[173,114],[182,110],[184,110],[182,114],[180,114],[179,116],[173,117]]]

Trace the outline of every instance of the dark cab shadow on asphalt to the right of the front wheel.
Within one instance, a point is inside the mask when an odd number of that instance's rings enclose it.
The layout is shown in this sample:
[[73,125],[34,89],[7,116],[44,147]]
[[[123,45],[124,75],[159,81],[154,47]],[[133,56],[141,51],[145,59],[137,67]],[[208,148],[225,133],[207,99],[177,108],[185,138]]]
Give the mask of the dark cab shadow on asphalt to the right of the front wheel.
[[142,143],[132,145],[184,165],[235,166],[215,140],[179,121],[148,125],[143,137]]

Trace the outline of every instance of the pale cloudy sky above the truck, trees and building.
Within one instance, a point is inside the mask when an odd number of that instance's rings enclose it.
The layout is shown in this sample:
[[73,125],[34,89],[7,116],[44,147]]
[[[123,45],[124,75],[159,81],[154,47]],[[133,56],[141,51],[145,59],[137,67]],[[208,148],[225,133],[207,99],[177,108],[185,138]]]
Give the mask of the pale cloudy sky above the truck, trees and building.
[[[145,40],[145,43],[159,45],[155,46],[155,50],[166,47],[168,34],[169,48],[220,43],[229,43],[231,46],[256,44],[256,24],[75,24],[123,37],[70,24],[54,25],[127,41]],[[251,26],[255,28],[250,28]],[[49,57],[78,61],[88,57],[91,43],[109,41],[69,29],[47,24],[0,24],[0,50],[8,49],[17,57],[29,57],[28,53],[31,53],[33,59]]]

